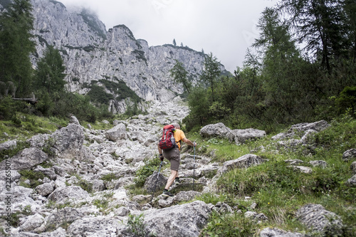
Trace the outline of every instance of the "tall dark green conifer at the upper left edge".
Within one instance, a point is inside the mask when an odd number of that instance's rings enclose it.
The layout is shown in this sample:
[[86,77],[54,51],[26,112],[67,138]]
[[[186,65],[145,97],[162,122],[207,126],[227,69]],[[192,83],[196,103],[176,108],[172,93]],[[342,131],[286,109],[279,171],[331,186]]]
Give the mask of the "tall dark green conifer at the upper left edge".
[[31,94],[30,55],[36,51],[31,34],[31,10],[30,0],[14,0],[8,11],[0,16],[0,80],[12,81],[18,98]]

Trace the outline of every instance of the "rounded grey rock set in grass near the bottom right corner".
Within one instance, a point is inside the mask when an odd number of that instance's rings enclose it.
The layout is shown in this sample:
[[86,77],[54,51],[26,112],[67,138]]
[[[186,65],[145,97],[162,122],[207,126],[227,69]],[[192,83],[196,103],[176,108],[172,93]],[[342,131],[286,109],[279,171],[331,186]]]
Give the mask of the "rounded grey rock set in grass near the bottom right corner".
[[296,212],[298,220],[313,231],[328,233],[329,236],[342,236],[342,220],[320,204],[307,204]]

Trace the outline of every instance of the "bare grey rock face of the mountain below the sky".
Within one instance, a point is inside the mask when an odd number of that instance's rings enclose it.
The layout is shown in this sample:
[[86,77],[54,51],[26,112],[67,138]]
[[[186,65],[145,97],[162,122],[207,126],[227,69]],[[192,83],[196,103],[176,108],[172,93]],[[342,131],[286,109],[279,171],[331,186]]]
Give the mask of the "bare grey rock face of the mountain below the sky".
[[[169,70],[179,60],[192,81],[197,80],[204,64],[204,53],[173,45],[149,46],[136,39],[124,25],[105,28],[95,14],[85,9],[68,9],[59,1],[32,0],[37,55],[43,56],[48,45],[61,51],[66,64],[68,89],[88,93],[96,83],[110,94],[120,94],[105,87],[105,81],[125,82],[146,101],[167,101],[183,93],[183,86],[172,83]],[[224,65],[221,71],[227,73]],[[110,101],[112,112],[124,112],[125,101]]]

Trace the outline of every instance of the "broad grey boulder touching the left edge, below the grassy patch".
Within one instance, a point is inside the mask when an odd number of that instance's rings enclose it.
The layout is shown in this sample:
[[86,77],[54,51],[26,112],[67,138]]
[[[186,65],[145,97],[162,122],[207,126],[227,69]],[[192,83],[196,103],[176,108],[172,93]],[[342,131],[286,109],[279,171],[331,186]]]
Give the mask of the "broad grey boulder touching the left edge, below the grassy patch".
[[6,169],[6,162],[11,163],[11,169],[23,170],[31,169],[32,167],[45,162],[48,155],[41,149],[30,147],[23,149],[18,154],[10,159],[4,160],[0,163],[0,170]]

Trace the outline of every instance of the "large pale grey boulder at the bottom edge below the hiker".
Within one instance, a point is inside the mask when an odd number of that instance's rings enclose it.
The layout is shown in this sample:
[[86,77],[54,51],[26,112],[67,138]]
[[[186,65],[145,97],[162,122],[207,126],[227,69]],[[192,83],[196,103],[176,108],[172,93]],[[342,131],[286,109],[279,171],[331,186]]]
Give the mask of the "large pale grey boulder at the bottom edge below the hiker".
[[210,213],[204,201],[144,211],[145,230],[147,233],[156,233],[157,237],[198,237]]

